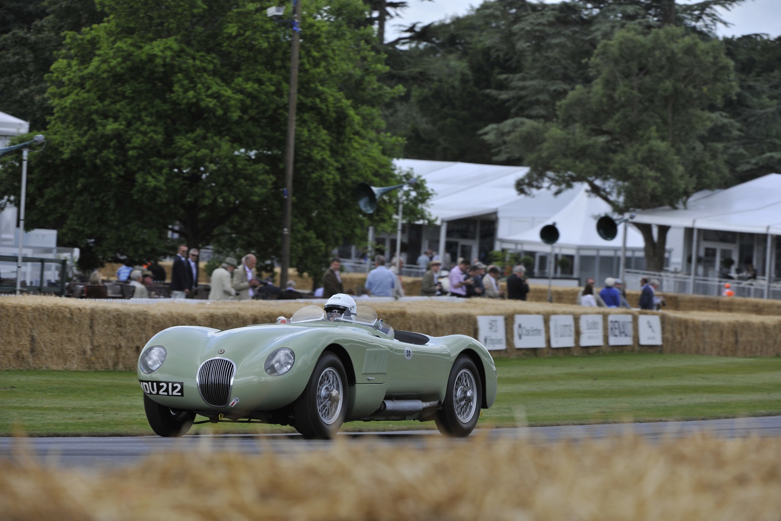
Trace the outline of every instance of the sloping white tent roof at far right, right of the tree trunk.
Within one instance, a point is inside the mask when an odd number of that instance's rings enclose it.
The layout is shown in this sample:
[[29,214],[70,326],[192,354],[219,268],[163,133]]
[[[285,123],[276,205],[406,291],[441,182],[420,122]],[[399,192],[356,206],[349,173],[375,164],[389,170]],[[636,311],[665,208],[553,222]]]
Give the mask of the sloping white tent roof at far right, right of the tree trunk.
[[[699,194],[695,194],[697,196]],[[637,212],[636,223],[704,230],[781,235],[781,175],[769,173],[744,184],[692,196],[684,209]]]

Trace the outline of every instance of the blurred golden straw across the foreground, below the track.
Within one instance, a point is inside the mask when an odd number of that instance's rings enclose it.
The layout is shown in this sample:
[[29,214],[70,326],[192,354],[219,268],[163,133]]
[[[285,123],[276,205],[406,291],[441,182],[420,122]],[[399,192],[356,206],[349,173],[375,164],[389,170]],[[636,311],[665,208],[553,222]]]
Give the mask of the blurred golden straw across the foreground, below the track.
[[577,444],[338,439],[261,455],[149,456],[72,470],[0,460],[2,519],[779,519],[781,440],[633,435]]

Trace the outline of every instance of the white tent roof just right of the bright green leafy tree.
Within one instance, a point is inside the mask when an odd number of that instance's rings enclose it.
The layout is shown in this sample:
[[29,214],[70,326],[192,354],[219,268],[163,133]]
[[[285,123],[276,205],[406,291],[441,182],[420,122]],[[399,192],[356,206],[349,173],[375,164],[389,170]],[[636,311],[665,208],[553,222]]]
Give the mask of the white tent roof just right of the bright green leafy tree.
[[396,159],[394,165],[411,169],[426,180],[434,192],[429,211],[440,222],[494,213],[503,205],[518,202],[522,196],[515,190],[515,180],[529,172],[526,166],[423,159]]

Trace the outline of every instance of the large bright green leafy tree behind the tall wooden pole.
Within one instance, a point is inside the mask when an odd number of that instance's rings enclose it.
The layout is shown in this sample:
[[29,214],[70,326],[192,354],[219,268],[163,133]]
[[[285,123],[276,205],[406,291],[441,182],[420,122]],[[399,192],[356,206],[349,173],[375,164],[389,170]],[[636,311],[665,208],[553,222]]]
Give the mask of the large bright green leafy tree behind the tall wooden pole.
[[[290,45],[248,0],[100,0],[66,37],[33,158],[30,224],[102,260],[190,247],[280,252]],[[292,266],[312,269],[368,223],[358,181],[398,180],[378,107],[394,90],[360,0],[309,0],[301,21]],[[358,28],[356,28],[358,27]],[[280,41],[280,30],[283,39]],[[0,171],[0,194],[17,193]],[[378,226],[392,211],[380,209]],[[181,240],[181,239],[180,239]]]

